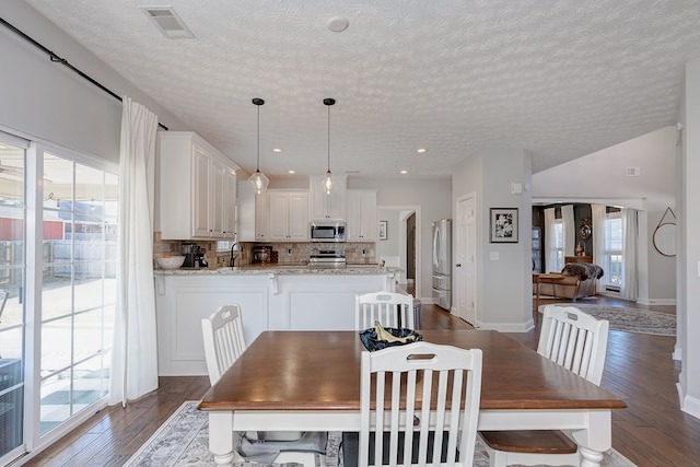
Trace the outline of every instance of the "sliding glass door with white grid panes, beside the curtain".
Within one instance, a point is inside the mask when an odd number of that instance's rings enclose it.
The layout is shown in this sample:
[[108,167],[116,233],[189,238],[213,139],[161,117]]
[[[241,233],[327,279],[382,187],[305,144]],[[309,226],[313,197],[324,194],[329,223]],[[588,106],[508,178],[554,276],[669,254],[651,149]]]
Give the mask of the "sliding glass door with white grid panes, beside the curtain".
[[116,171],[0,131],[0,465],[106,404]]

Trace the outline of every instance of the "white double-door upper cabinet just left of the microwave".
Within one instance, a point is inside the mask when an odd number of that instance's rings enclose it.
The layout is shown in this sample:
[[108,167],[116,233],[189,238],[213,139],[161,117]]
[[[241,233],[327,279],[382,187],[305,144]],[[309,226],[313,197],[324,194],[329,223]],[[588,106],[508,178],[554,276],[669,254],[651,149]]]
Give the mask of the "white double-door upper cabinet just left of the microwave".
[[270,242],[308,240],[308,192],[268,190],[267,211]]

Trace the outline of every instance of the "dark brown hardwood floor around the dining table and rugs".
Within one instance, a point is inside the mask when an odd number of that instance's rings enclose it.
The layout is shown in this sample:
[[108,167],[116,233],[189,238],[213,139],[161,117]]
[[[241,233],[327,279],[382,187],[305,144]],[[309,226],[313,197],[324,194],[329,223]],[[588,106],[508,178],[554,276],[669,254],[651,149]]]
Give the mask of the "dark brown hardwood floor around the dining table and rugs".
[[[609,297],[586,300],[674,313],[673,306],[635,306]],[[541,303],[546,303],[542,301]],[[470,328],[433,305],[422,305],[423,328]],[[509,334],[536,348],[539,328]],[[628,404],[612,415],[612,446],[641,467],[700,466],[700,420],[679,410],[676,381],[680,365],[672,360],[675,338],[610,331],[602,386]],[[121,466],[185,400],[199,399],[209,378],[161,377],[160,389],[126,409],[96,413],[30,466]]]

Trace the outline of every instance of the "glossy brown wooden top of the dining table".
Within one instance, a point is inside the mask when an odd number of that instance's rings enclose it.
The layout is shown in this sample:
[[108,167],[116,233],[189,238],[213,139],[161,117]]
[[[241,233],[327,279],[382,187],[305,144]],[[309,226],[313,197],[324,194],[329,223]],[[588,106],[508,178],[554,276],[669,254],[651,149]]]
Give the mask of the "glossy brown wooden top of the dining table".
[[[483,352],[482,410],[621,409],[623,400],[490,330],[421,330]],[[201,410],[360,410],[355,331],[265,331],[202,398]]]

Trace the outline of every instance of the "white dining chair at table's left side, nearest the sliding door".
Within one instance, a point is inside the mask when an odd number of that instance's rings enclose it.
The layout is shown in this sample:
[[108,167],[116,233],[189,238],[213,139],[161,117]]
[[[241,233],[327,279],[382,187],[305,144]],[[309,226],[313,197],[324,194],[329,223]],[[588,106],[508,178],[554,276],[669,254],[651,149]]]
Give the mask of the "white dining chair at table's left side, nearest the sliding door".
[[[209,381],[213,386],[246,350],[243,317],[237,304],[219,307],[201,320]],[[301,431],[249,431],[241,433],[240,453],[256,462],[298,463],[308,467],[326,466],[327,433]],[[246,442],[244,445],[243,442]]]

